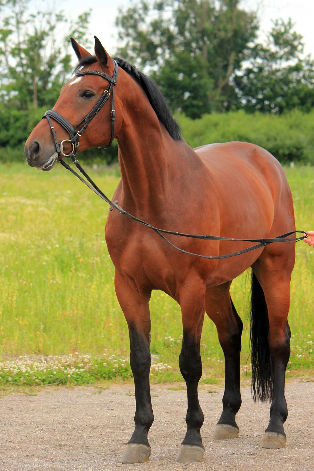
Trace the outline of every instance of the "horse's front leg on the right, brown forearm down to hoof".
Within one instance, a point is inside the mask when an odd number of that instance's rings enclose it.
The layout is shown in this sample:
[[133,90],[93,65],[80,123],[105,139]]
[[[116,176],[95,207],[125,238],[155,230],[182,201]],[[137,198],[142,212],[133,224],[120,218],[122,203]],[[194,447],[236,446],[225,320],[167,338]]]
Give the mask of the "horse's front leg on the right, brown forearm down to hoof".
[[[182,310],[183,340],[179,366],[187,390],[187,430],[176,461],[179,463],[202,461],[204,447],[201,441],[201,426],[204,415],[198,399],[198,382],[202,374],[200,341],[204,320],[205,288],[201,281],[189,285],[180,295]],[[191,289],[192,288],[192,289]]]

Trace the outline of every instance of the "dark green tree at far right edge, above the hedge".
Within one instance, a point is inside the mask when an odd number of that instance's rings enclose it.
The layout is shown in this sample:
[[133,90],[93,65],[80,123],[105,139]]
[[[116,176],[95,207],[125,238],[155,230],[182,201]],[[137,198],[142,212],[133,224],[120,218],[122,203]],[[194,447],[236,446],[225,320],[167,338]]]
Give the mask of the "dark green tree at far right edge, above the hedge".
[[244,109],[276,114],[313,109],[314,59],[304,56],[302,39],[291,19],[277,20],[266,43],[255,44],[250,65],[234,77]]

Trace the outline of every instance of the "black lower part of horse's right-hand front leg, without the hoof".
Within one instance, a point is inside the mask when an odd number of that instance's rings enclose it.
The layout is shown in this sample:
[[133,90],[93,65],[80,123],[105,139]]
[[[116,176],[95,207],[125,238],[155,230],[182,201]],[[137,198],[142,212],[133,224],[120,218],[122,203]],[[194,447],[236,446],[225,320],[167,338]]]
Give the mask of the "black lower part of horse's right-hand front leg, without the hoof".
[[203,448],[200,430],[204,422],[204,415],[197,394],[197,386],[202,373],[200,342],[185,333],[183,334],[179,365],[187,389],[187,413],[185,418],[187,430],[182,445],[194,445]]

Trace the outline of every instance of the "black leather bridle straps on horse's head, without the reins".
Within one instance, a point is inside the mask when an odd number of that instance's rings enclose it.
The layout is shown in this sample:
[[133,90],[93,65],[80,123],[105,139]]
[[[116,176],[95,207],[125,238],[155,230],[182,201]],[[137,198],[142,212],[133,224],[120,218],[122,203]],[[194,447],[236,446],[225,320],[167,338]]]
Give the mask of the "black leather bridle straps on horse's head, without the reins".
[[[114,109],[114,86],[117,83],[117,75],[118,75],[118,64],[115,60],[113,60],[114,63],[114,71],[113,71],[113,76],[110,77],[110,75],[107,75],[105,72],[101,72],[99,70],[85,70],[85,71],[78,71],[75,72],[75,75],[77,77],[81,77],[83,75],[98,75],[100,77],[103,77],[105,80],[108,80],[110,82],[109,87],[105,89],[105,91],[102,93],[101,97],[97,101],[96,105],[93,106],[93,108],[90,110],[89,114],[85,116],[84,119],[82,119],[79,124],[76,126],[72,126],[70,122],[68,122],[67,119],[62,116],[62,114],[58,113],[55,110],[48,110],[46,113],[43,115],[43,118],[46,118],[48,120],[49,126],[50,126],[50,131],[52,133],[52,136],[55,141],[55,146],[56,146],[56,151],[58,154],[58,157],[60,158],[61,155],[64,157],[71,157],[73,162],[75,162],[75,156],[79,151],[79,138],[83,134],[83,132],[86,130],[88,127],[89,123],[91,120],[96,116],[97,113],[102,109],[102,107],[105,105],[106,101],[108,101],[110,95],[112,95],[112,109],[111,109],[111,138],[109,144],[107,144],[104,147],[98,147],[99,149],[106,149],[107,147],[111,146],[113,142],[113,137],[114,137],[114,121],[115,121],[115,109]],[[55,120],[57,123],[61,124],[61,126],[67,131],[67,133],[70,136],[70,139],[64,139],[63,141],[60,142],[60,144],[57,141],[56,138],[56,130],[55,127],[53,126],[51,119]],[[63,152],[63,144],[64,142],[70,142],[72,145],[72,150],[69,152],[69,154],[64,154]]]

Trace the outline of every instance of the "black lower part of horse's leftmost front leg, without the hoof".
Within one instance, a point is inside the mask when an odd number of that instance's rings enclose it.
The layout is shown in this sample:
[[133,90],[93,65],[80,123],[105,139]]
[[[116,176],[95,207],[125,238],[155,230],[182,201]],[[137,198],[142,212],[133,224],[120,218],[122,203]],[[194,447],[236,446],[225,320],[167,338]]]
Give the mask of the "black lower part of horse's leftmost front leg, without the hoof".
[[147,434],[154,420],[149,386],[151,367],[149,341],[144,334],[138,333],[132,325],[129,325],[129,336],[130,364],[134,376],[136,400],[135,430],[129,443],[141,443],[149,447]]

